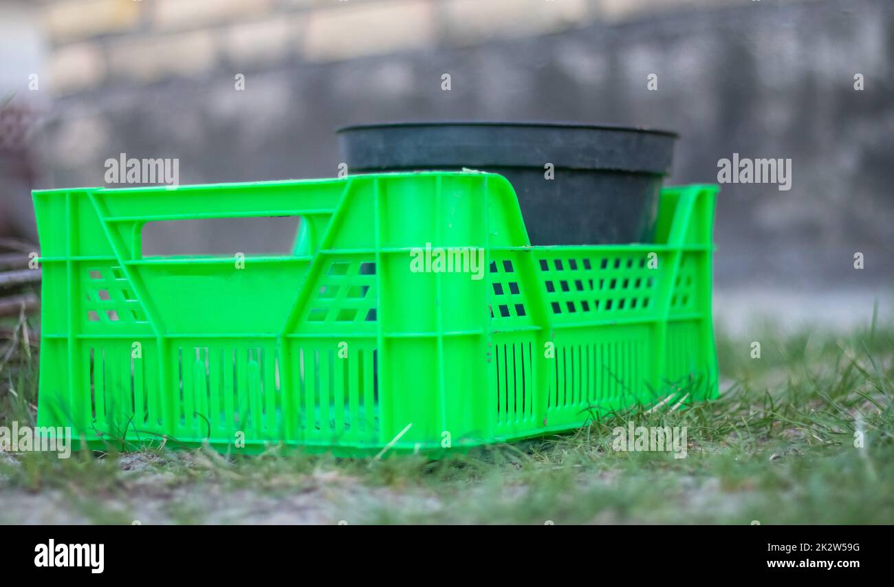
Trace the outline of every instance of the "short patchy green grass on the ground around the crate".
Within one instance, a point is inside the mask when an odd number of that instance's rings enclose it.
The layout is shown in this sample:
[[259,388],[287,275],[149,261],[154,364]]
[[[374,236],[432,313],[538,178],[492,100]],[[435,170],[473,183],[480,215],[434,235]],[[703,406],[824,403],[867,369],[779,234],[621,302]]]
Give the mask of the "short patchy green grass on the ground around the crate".
[[[0,492],[13,504],[0,522],[894,523],[894,325],[848,336],[754,331],[760,359],[753,340],[718,337],[718,400],[439,461],[276,450],[0,456]],[[33,422],[37,356],[18,344],[16,362],[0,365],[0,425]],[[612,429],[631,419],[687,426],[687,457],[612,450]]]

